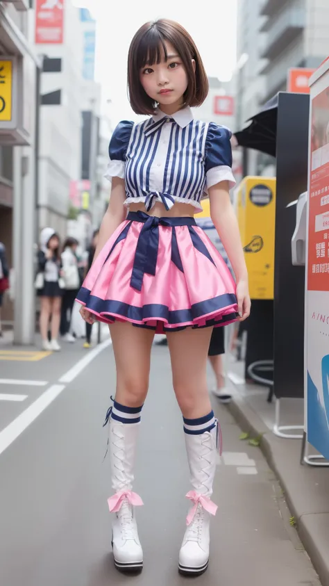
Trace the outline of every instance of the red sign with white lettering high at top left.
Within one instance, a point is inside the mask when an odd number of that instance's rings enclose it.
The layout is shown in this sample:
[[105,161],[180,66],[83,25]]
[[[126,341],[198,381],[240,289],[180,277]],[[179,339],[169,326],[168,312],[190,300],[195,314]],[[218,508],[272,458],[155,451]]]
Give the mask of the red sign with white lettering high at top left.
[[61,44],[64,29],[64,0],[36,0],[35,43]]

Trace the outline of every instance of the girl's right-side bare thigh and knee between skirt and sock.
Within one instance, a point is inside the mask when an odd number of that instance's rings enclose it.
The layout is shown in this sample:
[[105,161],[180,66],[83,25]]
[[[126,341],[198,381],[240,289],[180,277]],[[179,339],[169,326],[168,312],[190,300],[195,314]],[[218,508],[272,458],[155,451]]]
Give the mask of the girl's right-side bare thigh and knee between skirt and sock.
[[178,405],[187,418],[210,411],[207,388],[207,358],[211,327],[167,333],[173,384]]

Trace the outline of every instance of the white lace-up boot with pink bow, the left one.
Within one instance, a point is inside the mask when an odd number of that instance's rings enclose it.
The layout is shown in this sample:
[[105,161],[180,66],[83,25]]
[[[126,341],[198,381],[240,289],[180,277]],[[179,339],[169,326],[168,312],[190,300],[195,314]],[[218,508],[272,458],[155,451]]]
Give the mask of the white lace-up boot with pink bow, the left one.
[[108,499],[112,523],[112,548],[115,566],[121,571],[138,571],[143,567],[143,551],[137,532],[134,505],[142,505],[140,496],[132,491],[135,446],[140,423],[124,424],[110,419],[109,451],[112,488],[115,495]]

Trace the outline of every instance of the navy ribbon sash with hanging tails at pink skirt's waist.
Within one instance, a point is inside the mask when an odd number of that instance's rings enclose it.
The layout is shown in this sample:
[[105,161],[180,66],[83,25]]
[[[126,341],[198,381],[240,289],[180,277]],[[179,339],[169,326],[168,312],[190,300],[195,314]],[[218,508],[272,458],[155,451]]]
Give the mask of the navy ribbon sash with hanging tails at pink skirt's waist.
[[[138,237],[133,271],[130,278],[130,286],[137,289],[137,291],[142,291],[144,274],[155,275],[156,263],[158,261],[159,226],[171,228],[175,226],[192,226],[195,225],[195,220],[194,218],[157,218],[143,211],[130,212],[128,214],[128,220],[144,223],[140,231],[140,236]],[[171,252],[171,260],[175,262],[180,270],[183,270],[174,230],[172,237],[174,241],[172,242],[173,251]]]

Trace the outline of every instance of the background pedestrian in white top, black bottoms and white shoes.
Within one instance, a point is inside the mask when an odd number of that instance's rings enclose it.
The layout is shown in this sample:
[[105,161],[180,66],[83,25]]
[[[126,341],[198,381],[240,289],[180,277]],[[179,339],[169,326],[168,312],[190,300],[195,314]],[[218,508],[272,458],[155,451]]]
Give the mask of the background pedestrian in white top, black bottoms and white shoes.
[[78,258],[76,256],[76,249],[78,241],[76,238],[67,238],[63,252],[62,259],[62,276],[65,283],[65,289],[62,296],[62,310],[60,316],[60,335],[65,337],[67,342],[75,342],[76,339],[71,331],[71,317],[74,300],[81,286],[80,274],[78,268]]

